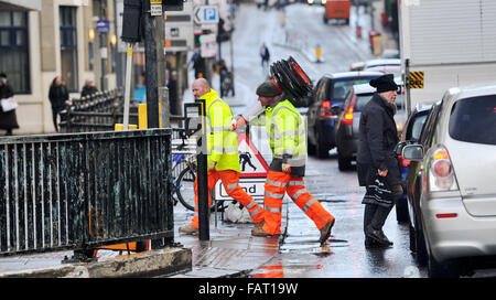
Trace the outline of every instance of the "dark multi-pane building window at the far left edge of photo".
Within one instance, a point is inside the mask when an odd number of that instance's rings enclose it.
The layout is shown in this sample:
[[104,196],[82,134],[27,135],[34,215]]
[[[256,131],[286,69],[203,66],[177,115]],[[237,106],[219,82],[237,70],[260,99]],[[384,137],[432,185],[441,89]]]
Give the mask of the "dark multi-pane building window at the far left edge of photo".
[[15,94],[29,94],[30,61],[28,13],[0,11],[0,72],[4,72]]

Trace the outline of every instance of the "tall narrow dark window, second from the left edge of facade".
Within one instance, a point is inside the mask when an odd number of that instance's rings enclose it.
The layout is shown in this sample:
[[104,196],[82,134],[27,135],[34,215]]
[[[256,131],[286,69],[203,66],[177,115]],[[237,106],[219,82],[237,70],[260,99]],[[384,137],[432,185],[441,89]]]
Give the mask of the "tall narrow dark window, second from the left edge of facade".
[[77,28],[76,8],[61,7],[61,64],[62,79],[65,81],[69,92],[77,92]]

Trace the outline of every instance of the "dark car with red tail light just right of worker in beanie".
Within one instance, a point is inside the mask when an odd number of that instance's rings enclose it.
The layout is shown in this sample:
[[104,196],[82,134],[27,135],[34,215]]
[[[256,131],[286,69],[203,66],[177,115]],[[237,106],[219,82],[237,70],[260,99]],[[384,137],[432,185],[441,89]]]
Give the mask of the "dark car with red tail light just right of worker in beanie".
[[345,72],[322,76],[310,97],[308,110],[309,153],[328,157],[336,146],[334,126],[343,109],[346,93],[355,84],[368,83],[384,75],[380,72]]

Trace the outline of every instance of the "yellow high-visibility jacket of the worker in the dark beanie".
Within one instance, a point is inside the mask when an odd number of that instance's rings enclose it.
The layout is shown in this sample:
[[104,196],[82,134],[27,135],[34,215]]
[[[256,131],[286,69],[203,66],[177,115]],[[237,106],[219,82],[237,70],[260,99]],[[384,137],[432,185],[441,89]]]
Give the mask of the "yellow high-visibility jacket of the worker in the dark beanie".
[[293,176],[304,176],[305,121],[296,108],[288,99],[280,99],[268,106],[266,108],[266,128],[273,154],[270,170],[280,172],[282,163],[289,163]]

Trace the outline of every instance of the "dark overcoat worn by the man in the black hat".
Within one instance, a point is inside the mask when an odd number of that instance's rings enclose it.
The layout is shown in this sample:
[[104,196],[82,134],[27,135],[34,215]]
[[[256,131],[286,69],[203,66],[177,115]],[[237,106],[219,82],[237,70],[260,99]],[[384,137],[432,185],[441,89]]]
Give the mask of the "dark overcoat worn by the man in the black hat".
[[395,153],[399,139],[393,115],[393,109],[377,93],[362,110],[356,160],[362,186],[370,185],[370,178],[374,178],[377,170],[388,170],[386,180],[390,186],[401,183]]

